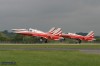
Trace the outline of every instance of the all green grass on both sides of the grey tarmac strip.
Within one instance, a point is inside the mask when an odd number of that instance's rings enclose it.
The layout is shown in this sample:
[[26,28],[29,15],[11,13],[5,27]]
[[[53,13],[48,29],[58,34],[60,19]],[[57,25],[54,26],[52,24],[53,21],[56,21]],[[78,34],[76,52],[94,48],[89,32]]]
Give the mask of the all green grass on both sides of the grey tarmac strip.
[[[100,45],[1,44],[0,48],[100,48]],[[100,54],[87,54],[78,50],[0,50],[0,66],[100,66]]]

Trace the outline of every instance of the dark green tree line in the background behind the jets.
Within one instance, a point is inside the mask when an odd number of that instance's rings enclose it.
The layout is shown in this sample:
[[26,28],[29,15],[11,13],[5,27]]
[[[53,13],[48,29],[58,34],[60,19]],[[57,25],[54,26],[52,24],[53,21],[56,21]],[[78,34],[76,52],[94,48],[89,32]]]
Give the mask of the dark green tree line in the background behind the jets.
[[[87,33],[79,32],[79,35],[87,35]],[[95,43],[100,43],[100,36],[95,36]],[[66,39],[65,43],[74,43],[75,40]],[[50,41],[51,43],[57,43],[62,41]],[[40,43],[39,37],[24,36],[9,32],[8,30],[0,31],[0,43]]]

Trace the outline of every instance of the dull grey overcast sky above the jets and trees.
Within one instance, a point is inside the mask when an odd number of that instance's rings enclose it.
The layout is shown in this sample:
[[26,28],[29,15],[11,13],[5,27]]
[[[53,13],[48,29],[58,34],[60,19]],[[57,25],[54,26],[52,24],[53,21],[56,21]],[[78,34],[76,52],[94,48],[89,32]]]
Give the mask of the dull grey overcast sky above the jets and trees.
[[30,27],[100,35],[100,0],[0,0],[0,31]]

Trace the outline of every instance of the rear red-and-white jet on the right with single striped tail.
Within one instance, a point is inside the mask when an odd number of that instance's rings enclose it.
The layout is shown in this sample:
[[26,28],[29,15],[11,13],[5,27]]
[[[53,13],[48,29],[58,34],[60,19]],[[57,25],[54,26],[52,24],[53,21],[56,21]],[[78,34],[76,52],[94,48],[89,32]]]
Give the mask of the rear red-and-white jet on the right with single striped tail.
[[81,41],[93,41],[93,40],[95,40],[93,31],[90,31],[86,36],[78,35],[75,33],[68,33],[68,34],[62,33],[61,37],[75,39],[78,41],[78,43],[81,43]]

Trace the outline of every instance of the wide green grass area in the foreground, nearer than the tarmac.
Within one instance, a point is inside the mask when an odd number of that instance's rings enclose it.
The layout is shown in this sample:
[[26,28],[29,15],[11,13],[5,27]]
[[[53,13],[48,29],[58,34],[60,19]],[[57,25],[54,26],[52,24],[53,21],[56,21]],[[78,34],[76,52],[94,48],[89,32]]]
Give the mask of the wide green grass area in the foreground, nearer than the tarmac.
[[100,66],[100,55],[79,51],[0,51],[0,62],[16,62],[2,66]]

